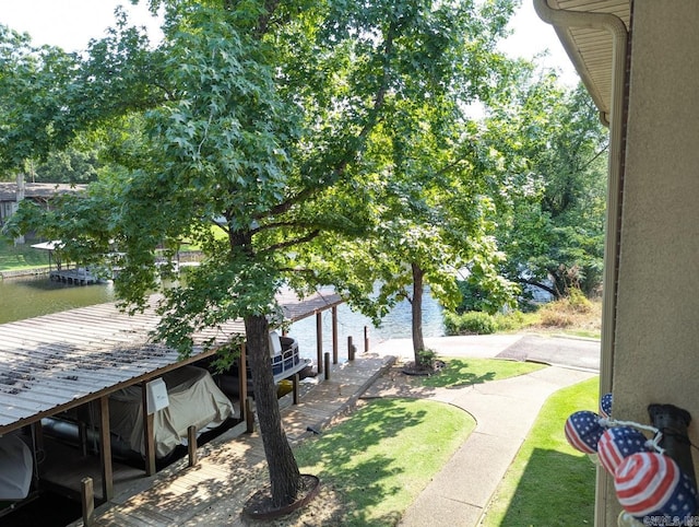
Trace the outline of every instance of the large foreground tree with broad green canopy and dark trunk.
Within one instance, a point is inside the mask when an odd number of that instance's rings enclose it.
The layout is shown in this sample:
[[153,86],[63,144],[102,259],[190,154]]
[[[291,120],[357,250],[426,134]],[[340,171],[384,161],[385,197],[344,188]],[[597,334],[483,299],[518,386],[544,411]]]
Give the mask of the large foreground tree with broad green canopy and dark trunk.
[[[370,179],[386,185],[389,176],[365,157],[377,127],[396,102],[453,85],[461,22],[473,24],[475,38],[479,28],[501,25],[511,2],[485,2],[483,12],[459,1],[163,3],[165,38],[155,48],[120,17],[86,58],[60,56],[60,78],[32,59],[32,74],[46,86],[37,93],[19,84],[26,75],[16,69],[10,80],[21,92],[17,109],[0,106],[9,117],[0,139],[5,166],[96,129],[121,169],[40,221],[25,208],[14,225],[67,234],[66,250],[85,257],[117,245],[123,257],[116,289],[130,308],[158,289],[156,247],[174,250],[185,238],[202,247],[206,259],[186,284],[163,291],[158,338],[187,353],[193,332],[245,320],[281,506],[294,501],[300,479],[269,364],[275,295],[284,284],[305,292],[332,283],[303,255],[325,237],[371,232],[379,195]],[[75,229],[80,221],[90,229]],[[227,352],[221,350],[224,360]]]

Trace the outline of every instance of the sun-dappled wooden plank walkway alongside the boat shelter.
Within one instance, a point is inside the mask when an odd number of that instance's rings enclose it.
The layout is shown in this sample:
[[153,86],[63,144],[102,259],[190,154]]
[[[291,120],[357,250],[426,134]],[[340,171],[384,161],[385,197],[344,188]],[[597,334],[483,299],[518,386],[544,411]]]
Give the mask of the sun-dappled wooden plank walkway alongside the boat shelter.
[[[299,405],[282,400],[282,421],[292,444],[321,430],[345,413],[371,383],[393,362],[390,356],[363,354],[352,362],[334,364],[330,378],[318,376],[304,383]],[[286,396],[288,398],[288,396]],[[286,399],[285,398],[285,399]],[[198,449],[199,462],[183,459],[157,475],[140,480],[144,487],[116,495],[95,511],[95,526],[242,526],[240,512],[257,490],[254,475],[265,468],[259,433],[228,431]],[[147,487],[147,488],[145,488]],[[82,519],[70,527],[83,526]]]

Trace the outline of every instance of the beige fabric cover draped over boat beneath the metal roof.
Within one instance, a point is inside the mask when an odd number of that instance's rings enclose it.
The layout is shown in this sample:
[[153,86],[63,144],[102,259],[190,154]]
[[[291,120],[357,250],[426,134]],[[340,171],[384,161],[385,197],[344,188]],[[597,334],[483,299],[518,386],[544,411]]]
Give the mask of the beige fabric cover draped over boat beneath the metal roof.
[[[183,366],[163,375],[169,406],[154,414],[155,455],[167,456],[180,444],[187,444],[187,429],[198,432],[214,428],[233,415],[233,403],[218,389],[211,374],[201,367]],[[131,449],[145,455],[143,437],[143,402],[140,386],[121,389],[109,397],[111,433],[127,442]]]

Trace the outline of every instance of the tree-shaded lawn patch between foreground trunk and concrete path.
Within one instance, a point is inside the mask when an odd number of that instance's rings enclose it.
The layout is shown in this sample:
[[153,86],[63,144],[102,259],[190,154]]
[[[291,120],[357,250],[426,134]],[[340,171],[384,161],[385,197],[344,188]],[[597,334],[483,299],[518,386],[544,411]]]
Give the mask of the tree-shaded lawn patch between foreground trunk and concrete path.
[[384,527],[398,524],[474,428],[449,405],[376,399],[301,445],[296,459],[301,472],[339,490],[346,504],[339,525]]

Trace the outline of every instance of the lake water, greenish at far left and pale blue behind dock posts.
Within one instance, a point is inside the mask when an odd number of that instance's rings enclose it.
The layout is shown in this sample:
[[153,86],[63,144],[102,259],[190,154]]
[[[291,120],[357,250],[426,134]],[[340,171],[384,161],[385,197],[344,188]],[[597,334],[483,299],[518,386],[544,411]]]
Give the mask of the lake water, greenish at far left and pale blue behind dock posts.
[[[48,315],[75,307],[114,302],[111,283],[96,285],[67,285],[52,282],[48,277],[13,278],[0,280],[0,324]],[[426,294],[423,303],[423,333],[428,337],[443,335],[441,307]],[[340,356],[346,358],[347,337],[352,336],[357,351],[364,351],[364,328],[368,327],[371,346],[392,338],[411,337],[411,305],[401,302],[383,319],[381,327],[374,328],[371,320],[353,313],[346,304],[337,307],[337,332]],[[332,351],[332,315],[322,314],[323,351]],[[316,317],[310,316],[295,323],[289,336],[298,340],[301,354],[316,359]]]

